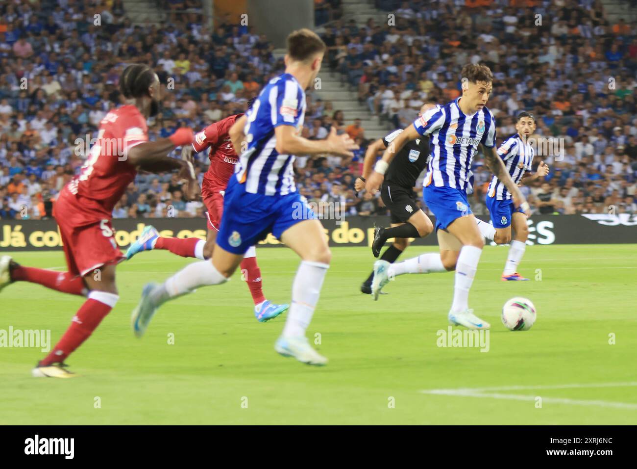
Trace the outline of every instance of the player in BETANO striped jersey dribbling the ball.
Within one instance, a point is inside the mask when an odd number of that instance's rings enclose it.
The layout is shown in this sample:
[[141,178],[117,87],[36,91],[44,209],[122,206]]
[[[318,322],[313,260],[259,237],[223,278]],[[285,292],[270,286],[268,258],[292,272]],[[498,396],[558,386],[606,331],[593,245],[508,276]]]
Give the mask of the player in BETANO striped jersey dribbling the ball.
[[495,151],[496,120],[486,107],[493,86],[487,66],[468,64],[462,68],[462,96],[429,110],[394,139],[383,153],[375,172],[368,178],[367,190],[377,188],[394,155],[409,140],[431,137],[432,158],[425,177],[424,202],[436,216],[436,234],[440,254],[427,253],[397,264],[383,260],[374,265],[372,294],[378,299],[380,289],[389,279],[401,274],[429,274],[455,270],[454,301],[448,319],[469,329],[488,329],[489,323],[469,309],[469,289],[478,267],[484,238],[471,213],[466,190],[471,175],[471,161],[482,145],[485,161],[513,194],[516,207],[529,211],[524,196],[512,181]]

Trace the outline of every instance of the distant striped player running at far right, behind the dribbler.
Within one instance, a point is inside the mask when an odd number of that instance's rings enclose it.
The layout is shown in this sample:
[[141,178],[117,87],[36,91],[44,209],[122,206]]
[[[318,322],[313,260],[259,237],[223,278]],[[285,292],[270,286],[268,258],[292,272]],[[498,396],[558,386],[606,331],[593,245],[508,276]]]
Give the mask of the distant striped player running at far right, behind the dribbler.
[[[535,151],[533,145],[529,144],[528,138],[535,131],[533,114],[526,111],[520,112],[515,130],[517,133],[500,145],[497,154],[504,161],[506,170],[515,184],[530,184],[548,174],[548,166],[544,164],[544,161],[540,161],[537,172],[531,175]],[[485,202],[493,225],[476,218],[480,233],[496,244],[511,242],[501,279],[528,280],[517,272],[517,266],[524,256],[526,240],[529,237],[526,215],[513,205],[511,193],[496,175],[491,178]],[[513,241],[511,241],[512,228]]]

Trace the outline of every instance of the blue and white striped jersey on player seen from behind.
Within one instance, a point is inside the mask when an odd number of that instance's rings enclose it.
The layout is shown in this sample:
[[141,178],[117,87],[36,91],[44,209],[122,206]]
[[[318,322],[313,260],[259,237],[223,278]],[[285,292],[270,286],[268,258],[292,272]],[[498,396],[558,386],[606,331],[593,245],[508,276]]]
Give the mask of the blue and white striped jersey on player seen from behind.
[[241,153],[235,177],[245,191],[263,195],[296,192],[294,155],[279,154],[275,127],[289,125],[301,130],[305,117],[305,92],[289,73],[272,78],[246,112],[243,132],[248,147]]

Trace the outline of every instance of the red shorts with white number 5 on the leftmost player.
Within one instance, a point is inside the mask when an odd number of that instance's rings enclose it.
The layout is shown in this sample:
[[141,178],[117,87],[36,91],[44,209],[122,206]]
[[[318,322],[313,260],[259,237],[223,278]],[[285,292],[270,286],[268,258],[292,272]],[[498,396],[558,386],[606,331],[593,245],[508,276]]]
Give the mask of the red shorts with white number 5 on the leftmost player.
[[117,264],[124,260],[115,241],[111,220],[104,218],[89,224],[78,224],[85,216],[82,209],[69,204],[63,197],[55,203],[55,221],[60,227],[64,255],[69,272],[85,276],[103,265]]

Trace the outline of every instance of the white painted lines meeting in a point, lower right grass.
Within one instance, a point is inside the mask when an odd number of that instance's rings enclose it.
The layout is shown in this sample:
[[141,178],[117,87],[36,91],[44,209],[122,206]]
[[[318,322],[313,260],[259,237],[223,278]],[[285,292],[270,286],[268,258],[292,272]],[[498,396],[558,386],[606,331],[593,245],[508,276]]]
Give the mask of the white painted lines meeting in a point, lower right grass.
[[[487,391],[530,391],[532,389],[585,389],[594,387],[632,387],[637,386],[637,382],[626,383],[589,383],[589,384],[559,384],[547,386],[503,386],[503,387],[481,387],[481,388],[459,388],[459,389],[424,389],[422,394],[436,394],[442,396],[458,396],[462,398],[490,398],[508,399],[512,401],[534,401],[538,396],[527,396],[523,394],[502,394],[501,392]],[[613,401],[583,401],[568,398],[543,397],[542,401],[553,404],[582,405],[613,407],[629,410],[637,410],[637,404]]]

